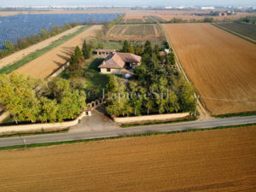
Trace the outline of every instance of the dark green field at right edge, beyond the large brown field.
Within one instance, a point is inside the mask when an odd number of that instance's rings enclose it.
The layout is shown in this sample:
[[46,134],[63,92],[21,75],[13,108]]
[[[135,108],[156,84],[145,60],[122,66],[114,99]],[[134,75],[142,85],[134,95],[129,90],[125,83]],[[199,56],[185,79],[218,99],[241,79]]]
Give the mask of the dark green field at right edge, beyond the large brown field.
[[240,22],[232,22],[232,23],[218,23],[218,26],[223,26],[226,29],[229,29],[233,32],[237,32],[247,38],[252,38],[256,40],[256,26],[252,24],[240,23]]

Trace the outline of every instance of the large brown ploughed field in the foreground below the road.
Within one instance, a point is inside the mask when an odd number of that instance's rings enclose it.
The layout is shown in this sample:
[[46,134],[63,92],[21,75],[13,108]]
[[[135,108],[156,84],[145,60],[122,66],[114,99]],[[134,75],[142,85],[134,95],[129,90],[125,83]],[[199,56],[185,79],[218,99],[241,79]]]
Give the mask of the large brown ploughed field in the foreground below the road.
[[255,191],[256,126],[0,151],[5,191]]

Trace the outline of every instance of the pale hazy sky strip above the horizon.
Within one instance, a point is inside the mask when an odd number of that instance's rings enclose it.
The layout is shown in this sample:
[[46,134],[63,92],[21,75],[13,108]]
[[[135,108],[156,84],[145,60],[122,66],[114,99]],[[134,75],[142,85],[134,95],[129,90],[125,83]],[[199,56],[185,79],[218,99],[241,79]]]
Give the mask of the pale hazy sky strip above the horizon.
[[189,6],[189,5],[234,5],[256,6],[256,0],[0,0],[0,6],[48,6],[48,5],[131,5],[131,6]]

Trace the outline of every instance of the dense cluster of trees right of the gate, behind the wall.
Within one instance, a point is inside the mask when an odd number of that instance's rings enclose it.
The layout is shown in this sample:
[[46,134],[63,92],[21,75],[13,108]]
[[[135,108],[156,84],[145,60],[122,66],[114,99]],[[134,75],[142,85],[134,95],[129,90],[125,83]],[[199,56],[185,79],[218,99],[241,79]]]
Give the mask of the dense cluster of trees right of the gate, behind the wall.
[[124,83],[117,76],[110,78],[106,87],[106,110],[110,115],[195,112],[193,87],[177,73],[173,53],[161,59],[157,54],[158,50],[146,42],[134,79]]

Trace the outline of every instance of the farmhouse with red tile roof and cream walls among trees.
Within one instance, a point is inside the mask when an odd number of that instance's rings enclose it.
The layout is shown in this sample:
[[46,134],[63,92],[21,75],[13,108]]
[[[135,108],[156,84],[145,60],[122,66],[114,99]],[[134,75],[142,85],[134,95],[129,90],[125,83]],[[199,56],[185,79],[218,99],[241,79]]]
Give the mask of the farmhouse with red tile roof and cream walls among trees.
[[108,55],[99,68],[101,73],[122,74],[124,70],[134,69],[140,65],[141,60],[141,56],[131,53],[114,53]]

